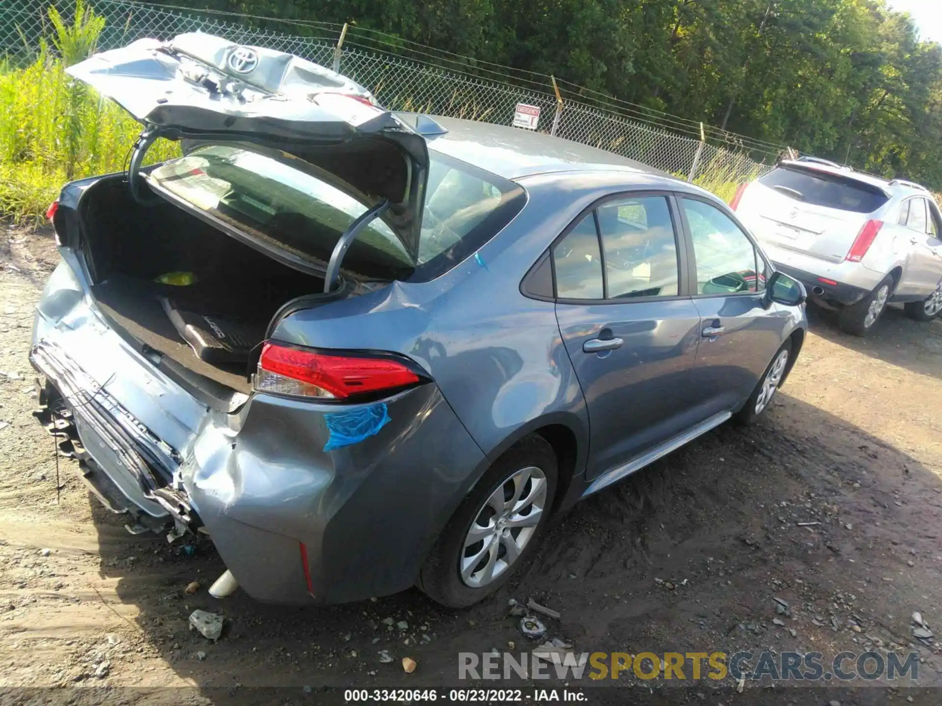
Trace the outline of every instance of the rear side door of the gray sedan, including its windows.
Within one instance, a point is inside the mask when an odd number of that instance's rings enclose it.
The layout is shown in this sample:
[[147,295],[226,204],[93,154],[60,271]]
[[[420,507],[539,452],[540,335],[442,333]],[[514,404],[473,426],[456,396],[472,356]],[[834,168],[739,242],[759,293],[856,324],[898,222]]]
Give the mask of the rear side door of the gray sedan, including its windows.
[[613,197],[553,245],[556,313],[589,409],[590,478],[695,424],[700,314],[686,291],[676,202]]

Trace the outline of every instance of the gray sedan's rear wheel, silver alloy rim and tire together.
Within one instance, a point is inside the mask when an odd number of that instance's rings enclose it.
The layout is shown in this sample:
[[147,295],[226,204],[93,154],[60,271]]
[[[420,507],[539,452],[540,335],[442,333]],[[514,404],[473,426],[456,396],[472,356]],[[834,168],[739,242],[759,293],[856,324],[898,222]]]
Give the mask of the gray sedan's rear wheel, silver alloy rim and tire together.
[[452,608],[479,602],[536,546],[556,493],[557,460],[543,437],[518,441],[464,498],[432,547],[418,587]]

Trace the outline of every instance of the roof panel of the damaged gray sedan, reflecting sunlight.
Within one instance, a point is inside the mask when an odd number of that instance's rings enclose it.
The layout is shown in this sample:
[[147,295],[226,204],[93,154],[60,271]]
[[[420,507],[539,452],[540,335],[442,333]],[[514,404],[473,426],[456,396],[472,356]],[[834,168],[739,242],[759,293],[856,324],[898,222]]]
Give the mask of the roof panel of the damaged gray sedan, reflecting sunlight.
[[430,116],[447,132],[428,135],[429,149],[505,179],[587,169],[670,176],[614,152],[543,133],[491,122]]

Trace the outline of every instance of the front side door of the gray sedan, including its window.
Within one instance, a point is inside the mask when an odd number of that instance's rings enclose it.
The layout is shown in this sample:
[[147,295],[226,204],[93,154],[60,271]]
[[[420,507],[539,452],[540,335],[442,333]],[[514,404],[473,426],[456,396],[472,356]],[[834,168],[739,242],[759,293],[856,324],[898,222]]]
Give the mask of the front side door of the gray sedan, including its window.
[[738,407],[753,392],[783,341],[788,313],[776,304],[766,308],[770,270],[739,224],[706,199],[678,201],[702,324],[692,386],[709,416]]

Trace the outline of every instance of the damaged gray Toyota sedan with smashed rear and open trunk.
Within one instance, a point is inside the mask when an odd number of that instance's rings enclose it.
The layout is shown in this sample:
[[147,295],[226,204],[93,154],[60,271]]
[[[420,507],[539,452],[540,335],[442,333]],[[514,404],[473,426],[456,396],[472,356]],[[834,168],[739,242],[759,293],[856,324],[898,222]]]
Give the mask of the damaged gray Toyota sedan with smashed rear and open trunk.
[[[70,72],[143,130],[50,209],[39,415],[260,601],[479,601],[552,513],[753,421],[804,341],[722,202],[615,154],[205,35]],[[183,156],[143,167],[158,137]]]

